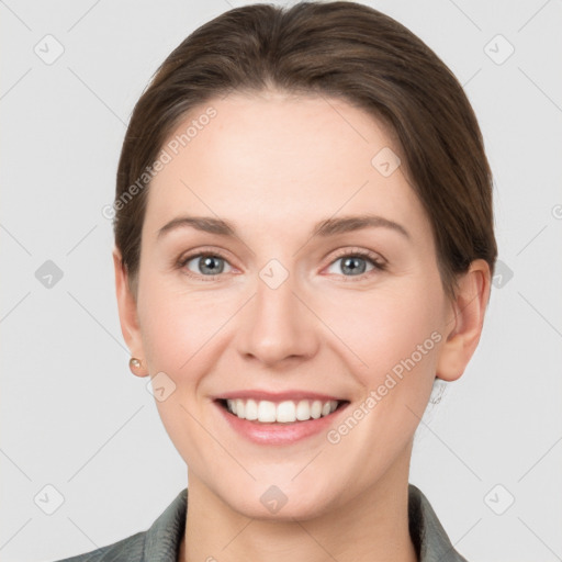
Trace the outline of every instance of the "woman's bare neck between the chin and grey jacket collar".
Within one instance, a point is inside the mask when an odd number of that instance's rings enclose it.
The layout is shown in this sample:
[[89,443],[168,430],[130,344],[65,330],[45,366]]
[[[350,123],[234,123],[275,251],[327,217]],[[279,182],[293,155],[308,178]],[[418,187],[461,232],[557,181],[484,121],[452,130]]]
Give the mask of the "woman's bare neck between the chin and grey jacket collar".
[[389,471],[371,488],[318,517],[271,521],[235,512],[190,473],[179,561],[417,562],[408,530],[407,479],[407,468]]

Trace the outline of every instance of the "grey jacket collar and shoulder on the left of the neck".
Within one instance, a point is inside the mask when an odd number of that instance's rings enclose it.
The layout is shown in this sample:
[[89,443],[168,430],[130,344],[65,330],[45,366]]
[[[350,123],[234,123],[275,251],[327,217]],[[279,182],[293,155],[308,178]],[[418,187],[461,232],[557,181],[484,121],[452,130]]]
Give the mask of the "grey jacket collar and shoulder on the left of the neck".
[[176,562],[186,528],[187,504],[188,488],[184,488],[149,529],[55,562]]

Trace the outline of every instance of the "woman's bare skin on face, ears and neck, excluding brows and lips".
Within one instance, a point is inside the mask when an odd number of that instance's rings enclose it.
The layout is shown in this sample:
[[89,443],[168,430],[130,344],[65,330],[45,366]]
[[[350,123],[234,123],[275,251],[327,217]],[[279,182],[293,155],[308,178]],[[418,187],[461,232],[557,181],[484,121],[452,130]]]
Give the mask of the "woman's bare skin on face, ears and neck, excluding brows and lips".
[[[475,260],[454,300],[446,296],[405,166],[384,177],[371,165],[383,147],[400,155],[400,146],[362,110],[277,91],[207,105],[217,115],[150,184],[136,293],[114,250],[123,336],[143,361],[135,373],[165,372],[176,384],[156,404],[188,465],[179,560],[415,561],[407,527],[414,432],[436,375],[460,378],[476,348],[487,263]],[[364,213],[408,236],[380,226],[311,237],[321,221]],[[186,214],[229,221],[236,236],[184,227],[158,238]],[[371,251],[386,267],[362,258],[364,273],[353,276],[341,249]],[[178,265],[203,250],[225,258],[215,277],[196,258]],[[289,272],[274,290],[259,277],[273,258]],[[252,443],[211,401],[243,389],[299,389],[346,398],[352,413],[435,331],[440,341],[337,445],[326,432]],[[273,484],[288,497],[277,514],[260,502]]]

